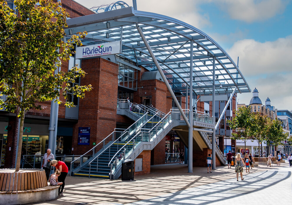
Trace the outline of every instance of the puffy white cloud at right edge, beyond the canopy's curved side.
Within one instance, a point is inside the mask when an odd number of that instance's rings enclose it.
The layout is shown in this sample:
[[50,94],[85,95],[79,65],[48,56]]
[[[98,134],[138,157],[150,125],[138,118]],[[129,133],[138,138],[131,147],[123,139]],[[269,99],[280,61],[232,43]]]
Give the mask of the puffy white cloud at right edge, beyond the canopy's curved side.
[[292,36],[260,43],[253,39],[237,41],[227,50],[232,59],[239,56],[239,69],[244,76],[256,76],[291,70]]

